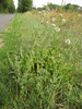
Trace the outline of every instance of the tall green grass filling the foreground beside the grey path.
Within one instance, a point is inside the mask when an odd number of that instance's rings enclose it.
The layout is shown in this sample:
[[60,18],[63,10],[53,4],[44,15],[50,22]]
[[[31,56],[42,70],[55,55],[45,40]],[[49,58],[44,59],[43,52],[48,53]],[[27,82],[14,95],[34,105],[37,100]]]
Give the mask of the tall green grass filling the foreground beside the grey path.
[[81,109],[82,27],[56,32],[32,16],[16,14],[5,28],[0,35],[4,44],[0,108]]

